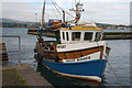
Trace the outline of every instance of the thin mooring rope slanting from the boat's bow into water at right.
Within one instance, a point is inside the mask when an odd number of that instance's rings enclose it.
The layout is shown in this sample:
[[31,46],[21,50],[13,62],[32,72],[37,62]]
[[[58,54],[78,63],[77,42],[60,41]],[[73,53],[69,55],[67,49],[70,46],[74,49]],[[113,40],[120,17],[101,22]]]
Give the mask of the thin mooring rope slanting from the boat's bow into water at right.
[[[99,46],[100,52],[103,54],[103,51],[101,50],[101,47],[100,47],[100,45],[98,44],[98,42],[96,42],[96,43],[97,43],[97,45]],[[107,59],[107,62],[108,62],[108,65],[109,65],[110,69],[113,72],[113,75],[116,76],[116,78],[117,78],[117,80],[118,80],[118,84],[121,85],[121,87],[122,87],[122,86],[123,86],[122,81],[120,80],[120,78],[119,78],[118,75],[116,74],[116,72],[114,72],[113,67],[111,66],[110,62],[108,61],[106,54],[103,54],[103,55],[105,55],[105,57],[106,57],[106,59]],[[122,88],[123,88],[123,87],[122,87]]]

